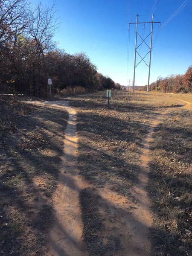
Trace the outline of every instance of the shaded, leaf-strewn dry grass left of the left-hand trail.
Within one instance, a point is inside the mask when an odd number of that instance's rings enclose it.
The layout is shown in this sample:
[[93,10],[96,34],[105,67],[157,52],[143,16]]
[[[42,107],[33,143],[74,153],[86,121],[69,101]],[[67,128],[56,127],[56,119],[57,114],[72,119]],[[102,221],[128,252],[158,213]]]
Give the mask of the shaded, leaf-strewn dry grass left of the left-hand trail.
[[[44,255],[68,115],[15,98],[0,105],[0,252]],[[45,253],[46,254],[46,253]]]

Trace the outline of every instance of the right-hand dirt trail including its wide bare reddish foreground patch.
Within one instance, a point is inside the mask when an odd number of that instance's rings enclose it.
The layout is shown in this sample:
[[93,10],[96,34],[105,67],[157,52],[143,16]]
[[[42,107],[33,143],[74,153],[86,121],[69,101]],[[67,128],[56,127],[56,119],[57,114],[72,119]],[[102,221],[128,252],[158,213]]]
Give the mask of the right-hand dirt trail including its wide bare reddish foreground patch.
[[105,230],[102,232],[103,241],[108,242],[113,236],[121,241],[121,249],[111,255],[149,256],[151,254],[151,241],[148,236],[153,221],[146,190],[150,145],[153,141],[154,128],[169,111],[166,109],[158,113],[157,118],[148,127],[147,137],[143,140],[140,163],[138,163],[140,174],[137,183],[128,192],[128,198],[112,191],[110,184],[104,188],[97,188],[99,212],[105,225]]

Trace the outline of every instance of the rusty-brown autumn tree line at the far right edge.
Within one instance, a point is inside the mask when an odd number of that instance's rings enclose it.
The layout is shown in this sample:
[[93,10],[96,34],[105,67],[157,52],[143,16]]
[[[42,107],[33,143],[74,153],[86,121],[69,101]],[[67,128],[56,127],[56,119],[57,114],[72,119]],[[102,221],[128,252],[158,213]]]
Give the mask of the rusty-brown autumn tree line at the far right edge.
[[[147,89],[145,85],[144,90]],[[157,81],[149,85],[151,91],[162,91],[164,93],[192,93],[192,66],[189,66],[184,75],[157,77]]]

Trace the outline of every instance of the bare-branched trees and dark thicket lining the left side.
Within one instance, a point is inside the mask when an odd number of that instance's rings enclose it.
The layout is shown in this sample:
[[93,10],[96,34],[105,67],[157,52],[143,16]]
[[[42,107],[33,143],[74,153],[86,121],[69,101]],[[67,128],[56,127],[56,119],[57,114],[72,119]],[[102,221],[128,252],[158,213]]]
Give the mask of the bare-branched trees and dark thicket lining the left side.
[[68,54],[52,41],[59,24],[55,5],[35,8],[27,0],[0,0],[0,92],[46,96],[67,87],[115,88],[84,52]]

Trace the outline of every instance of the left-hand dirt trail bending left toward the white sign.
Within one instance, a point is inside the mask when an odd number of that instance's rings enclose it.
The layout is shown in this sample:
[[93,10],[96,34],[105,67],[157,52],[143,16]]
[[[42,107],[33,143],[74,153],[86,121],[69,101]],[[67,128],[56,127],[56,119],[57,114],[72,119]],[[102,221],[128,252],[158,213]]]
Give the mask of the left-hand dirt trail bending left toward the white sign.
[[83,224],[79,191],[84,188],[85,184],[77,168],[76,111],[65,101],[30,103],[63,108],[69,113],[58,186],[53,195],[55,220],[48,236],[49,246],[46,255],[87,256],[88,253],[81,238]]

